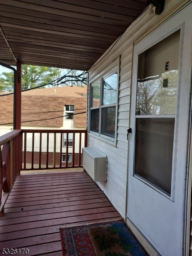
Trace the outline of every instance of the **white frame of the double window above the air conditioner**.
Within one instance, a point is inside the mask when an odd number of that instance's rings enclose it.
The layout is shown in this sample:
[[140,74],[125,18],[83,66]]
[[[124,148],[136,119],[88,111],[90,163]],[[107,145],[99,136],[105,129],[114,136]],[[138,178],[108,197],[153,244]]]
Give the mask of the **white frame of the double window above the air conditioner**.
[[[114,73],[117,73],[117,85],[116,85],[116,103],[112,105],[103,105],[103,81],[104,79],[107,79],[109,76],[113,75]],[[91,100],[92,100],[92,87],[99,83],[101,84],[100,88],[100,105],[99,107],[93,107],[91,108]],[[96,76],[95,80],[90,81],[90,94],[89,94],[89,122],[88,122],[88,132],[91,136],[96,136],[99,139],[105,140],[106,142],[113,144],[116,146],[116,138],[117,138],[117,118],[118,118],[118,97],[119,97],[119,58],[117,58],[113,63],[111,63],[102,73],[99,73],[99,76]],[[115,113],[115,133],[114,133],[114,138],[104,135],[101,133],[102,130],[102,116],[101,116],[101,111],[102,108],[107,108],[107,107],[116,107],[116,113]],[[91,126],[91,110],[98,109],[99,108],[99,132],[91,131],[90,126]]]

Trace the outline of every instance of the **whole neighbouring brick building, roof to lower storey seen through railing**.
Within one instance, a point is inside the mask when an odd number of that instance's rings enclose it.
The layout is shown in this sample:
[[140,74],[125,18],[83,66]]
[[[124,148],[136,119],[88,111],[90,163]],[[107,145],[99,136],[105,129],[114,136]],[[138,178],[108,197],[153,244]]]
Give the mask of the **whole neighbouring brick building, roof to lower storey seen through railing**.
[[[56,87],[41,88],[22,92],[21,95],[21,129],[36,130],[74,130],[86,128],[86,102],[87,87]],[[0,93],[5,94],[5,93]],[[13,95],[0,97],[0,135],[6,134],[13,128]],[[62,162],[66,160],[66,140],[67,136],[61,132],[61,137],[56,140],[56,158],[59,161],[59,150],[62,140]],[[47,134],[42,135],[42,153],[41,158],[45,159],[47,151]],[[49,140],[53,141],[53,134],[49,135]],[[84,137],[82,137],[84,140]],[[31,163],[32,157],[32,134],[28,134],[27,138],[26,162]],[[79,150],[79,135],[73,141],[73,134],[68,135],[68,162],[73,156],[72,145],[75,147],[75,161],[77,161],[76,151]],[[49,164],[52,163],[53,144],[50,143]],[[39,161],[39,137],[35,137],[34,141],[34,163]]]

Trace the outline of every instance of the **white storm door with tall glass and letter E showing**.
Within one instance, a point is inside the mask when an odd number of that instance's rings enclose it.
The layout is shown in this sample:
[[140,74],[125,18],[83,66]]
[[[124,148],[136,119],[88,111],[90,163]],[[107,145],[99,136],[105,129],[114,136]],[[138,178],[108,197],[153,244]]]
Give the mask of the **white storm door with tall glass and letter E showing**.
[[162,256],[183,255],[191,13],[134,47],[127,218]]

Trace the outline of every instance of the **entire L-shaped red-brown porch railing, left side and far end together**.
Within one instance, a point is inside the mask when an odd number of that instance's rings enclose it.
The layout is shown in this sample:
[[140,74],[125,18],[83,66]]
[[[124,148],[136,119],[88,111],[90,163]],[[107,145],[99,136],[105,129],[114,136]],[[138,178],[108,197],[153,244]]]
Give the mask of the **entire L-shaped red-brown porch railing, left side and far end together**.
[[81,167],[87,130],[14,130],[0,136],[0,216],[20,170]]

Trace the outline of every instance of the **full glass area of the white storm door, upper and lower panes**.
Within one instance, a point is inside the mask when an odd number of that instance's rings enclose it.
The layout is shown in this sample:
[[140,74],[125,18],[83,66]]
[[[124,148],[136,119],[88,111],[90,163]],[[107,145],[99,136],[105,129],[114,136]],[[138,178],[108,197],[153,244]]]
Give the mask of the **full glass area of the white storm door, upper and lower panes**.
[[180,30],[138,56],[134,174],[169,195],[179,46]]

